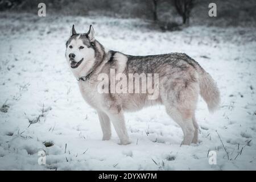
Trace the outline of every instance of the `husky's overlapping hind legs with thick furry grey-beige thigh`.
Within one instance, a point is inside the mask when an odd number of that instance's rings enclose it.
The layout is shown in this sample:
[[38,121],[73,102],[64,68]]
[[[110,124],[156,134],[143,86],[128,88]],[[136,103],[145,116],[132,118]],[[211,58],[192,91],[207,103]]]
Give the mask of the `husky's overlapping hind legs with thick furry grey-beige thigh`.
[[183,144],[191,144],[197,141],[197,123],[195,122],[195,110],[199,97],[199,82],[193,69],[183,72],[183,77],[175,78],[163,86],[161,98],[166,106],[167,113],[177,122],[184,133]]

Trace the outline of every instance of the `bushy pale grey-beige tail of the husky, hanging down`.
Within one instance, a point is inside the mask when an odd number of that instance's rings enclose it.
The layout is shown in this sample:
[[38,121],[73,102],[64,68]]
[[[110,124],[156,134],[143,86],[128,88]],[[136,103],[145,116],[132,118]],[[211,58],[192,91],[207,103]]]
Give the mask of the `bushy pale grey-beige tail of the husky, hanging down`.
[[210,112],[216,110],[220,104],[220,91],[209,73],[203,71],[200,74],[200,94],[207,102]]

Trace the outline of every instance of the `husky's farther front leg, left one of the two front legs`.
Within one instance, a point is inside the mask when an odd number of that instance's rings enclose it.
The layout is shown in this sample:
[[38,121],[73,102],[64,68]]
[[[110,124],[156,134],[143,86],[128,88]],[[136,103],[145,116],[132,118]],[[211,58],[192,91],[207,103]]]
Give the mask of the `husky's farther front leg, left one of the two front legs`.
[[109,140],[111,138],[111,126],[108,115],[106,115],[103,111],[97,111],[98,118],[101,123],[101,130],[103,133],[102,140]]

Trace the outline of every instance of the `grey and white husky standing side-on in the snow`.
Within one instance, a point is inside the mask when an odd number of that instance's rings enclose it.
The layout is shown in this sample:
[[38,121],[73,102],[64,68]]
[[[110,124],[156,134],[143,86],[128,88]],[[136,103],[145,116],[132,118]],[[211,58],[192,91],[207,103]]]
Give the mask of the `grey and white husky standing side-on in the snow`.
[[[80,92],[84,100],[96,109],[103,133],[102,140],[111,137],[110,121],[120,139],[120,144],[129,144],[129,136],[125,125],[123,112],[137,111],[145,106],[164,105],[167,114],[181,127],[183,144],[197,143],[199,126],[195,118],[195,109],[199,94],[207,102],[209,111],[217,109],[220,103],[220,92],[209,73],[184,53],[168,53],[163,55],[131,56],[118,51],[106,49],[94,37],[93,27],[86,34],[77,34],[74,25],[66,43],[65,57],[73,75],[77,78]],[[127,77],[117,79],[115,74]],[[104,81],[99,76],[104,74],[110,81]],[[113,92],[111,84],[134,81],[139,75],[139,85],[124,86],[131,92]],[[143,90],[135,92],[136,86],[147,84],[143,79],[146,74],[154,74],[155,98],[149,99],[152,93]],[[130,84],[130,83],[129,83]],[[99,90],[99,85],[105,91]],[[120,86],[120,85],[119,85]],[[138,90],[137,90],[138,91]],[[153,94],[154,94],[153,93]]]

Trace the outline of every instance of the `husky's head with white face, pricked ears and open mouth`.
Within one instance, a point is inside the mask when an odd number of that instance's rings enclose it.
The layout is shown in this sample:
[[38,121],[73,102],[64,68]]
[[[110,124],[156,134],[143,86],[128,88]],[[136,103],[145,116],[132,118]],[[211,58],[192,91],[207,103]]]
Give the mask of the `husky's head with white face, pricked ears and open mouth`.
[[65,57],[75,76],[80,76],[81,71],[86,72],[92,68],[95,61],[96,40],[94,30],[90,25],[86,34],[77,34],[74,25],[66,43]]

